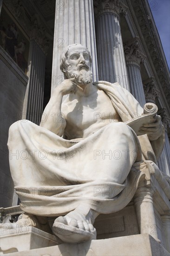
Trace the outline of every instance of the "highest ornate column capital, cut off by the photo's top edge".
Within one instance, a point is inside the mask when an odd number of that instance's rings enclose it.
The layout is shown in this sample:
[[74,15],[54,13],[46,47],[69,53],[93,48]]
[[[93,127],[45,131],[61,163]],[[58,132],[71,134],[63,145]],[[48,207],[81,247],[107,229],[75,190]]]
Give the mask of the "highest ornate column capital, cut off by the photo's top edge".
[[118,17],[127,14],[128,7],[124,5],[122,0],[94,0],[96,16],[103,13],[114,13]]

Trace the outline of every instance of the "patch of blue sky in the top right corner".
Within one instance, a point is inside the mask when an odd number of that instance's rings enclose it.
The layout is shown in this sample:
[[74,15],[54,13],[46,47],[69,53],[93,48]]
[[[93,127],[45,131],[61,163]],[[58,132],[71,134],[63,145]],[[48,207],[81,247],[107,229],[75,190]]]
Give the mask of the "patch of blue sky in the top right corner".
[[170,68],[170,0],[148,0]]

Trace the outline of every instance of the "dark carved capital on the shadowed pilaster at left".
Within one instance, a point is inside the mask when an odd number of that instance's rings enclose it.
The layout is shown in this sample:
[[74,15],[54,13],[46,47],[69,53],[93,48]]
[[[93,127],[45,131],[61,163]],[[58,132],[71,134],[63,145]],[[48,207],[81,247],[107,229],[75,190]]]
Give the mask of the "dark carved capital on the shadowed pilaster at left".
[[30,40],[35,40],[44,54],[47,54],[48,48],[51,44],[51,38],[48,36],[48,33],[43,27],[38,17],[34,17],[30,27]]

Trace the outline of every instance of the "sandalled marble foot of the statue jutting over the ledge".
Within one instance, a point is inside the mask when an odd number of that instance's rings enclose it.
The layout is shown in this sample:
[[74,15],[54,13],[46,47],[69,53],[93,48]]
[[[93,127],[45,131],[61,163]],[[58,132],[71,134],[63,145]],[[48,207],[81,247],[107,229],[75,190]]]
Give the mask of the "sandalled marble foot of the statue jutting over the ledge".
[[98,213],[83,205],[66,216],[58,217],[53,224],[52,231],[66,243],[81,243],[96,239],[96,229],[93,227]]

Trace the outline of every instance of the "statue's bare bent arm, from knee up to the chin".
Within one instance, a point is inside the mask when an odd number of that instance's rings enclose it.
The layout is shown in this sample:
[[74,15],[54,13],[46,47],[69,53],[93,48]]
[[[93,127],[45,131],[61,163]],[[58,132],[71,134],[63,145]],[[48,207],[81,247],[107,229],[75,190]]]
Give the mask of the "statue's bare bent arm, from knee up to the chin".
[[[64,85],[59,85],[55,88],[50,101],[46,105],[43,112],[40,126],[47,130],[62,136],[64,134],[66,121],[62,117],[61,103],[63,96],[69,93],[73,93],[77,89],[77,85],[73,82],[74,79],[64,80]],[[44,121],[45,120],[45,121]]]

